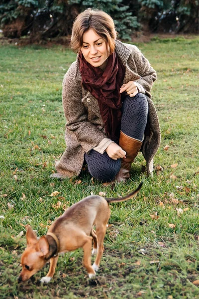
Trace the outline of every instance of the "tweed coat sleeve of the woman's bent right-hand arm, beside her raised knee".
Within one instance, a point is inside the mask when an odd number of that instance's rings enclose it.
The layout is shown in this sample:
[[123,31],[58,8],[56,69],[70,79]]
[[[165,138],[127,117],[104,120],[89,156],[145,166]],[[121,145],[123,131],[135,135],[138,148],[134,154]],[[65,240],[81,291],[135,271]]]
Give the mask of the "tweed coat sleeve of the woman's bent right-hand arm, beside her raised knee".
[[145,93],[151,97],[150,91],[153,85],[153,82],[157,79],[156,71],[151,67],[148,59],[144,57],[141,51],[134,45],[131,45],[132,54],[131,54],[131,63],[133,68],[136,70],[136,73],[140,75],[140,79],[136,80],[137,86],[139,85],[144,88]]

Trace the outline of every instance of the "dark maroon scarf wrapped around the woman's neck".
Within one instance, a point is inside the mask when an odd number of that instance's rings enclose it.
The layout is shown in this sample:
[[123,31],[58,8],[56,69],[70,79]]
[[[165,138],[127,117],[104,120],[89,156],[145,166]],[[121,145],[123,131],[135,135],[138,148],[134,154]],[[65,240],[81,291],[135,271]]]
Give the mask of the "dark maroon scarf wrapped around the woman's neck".
[[104,123],[106,135],[117,142],[121,123],[121,94],[120,87],[125,75],[125,67],[115,52],[110,55],[104,71],[92,66],[79,53],[82,85],[98,100],[100,115]]

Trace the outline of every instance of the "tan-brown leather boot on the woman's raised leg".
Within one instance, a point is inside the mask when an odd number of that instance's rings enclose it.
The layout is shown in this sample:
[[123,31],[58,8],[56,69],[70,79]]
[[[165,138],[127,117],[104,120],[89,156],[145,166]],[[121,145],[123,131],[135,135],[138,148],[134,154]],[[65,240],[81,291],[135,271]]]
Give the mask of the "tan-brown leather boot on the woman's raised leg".
[[126,151],[126,158],[121,159],[121,168],[115,176],[115,181],[125,182],[130,177],[131,163],[137,156],[142,142],[120,131],[119,146]]

